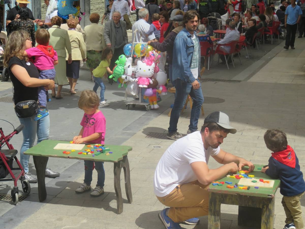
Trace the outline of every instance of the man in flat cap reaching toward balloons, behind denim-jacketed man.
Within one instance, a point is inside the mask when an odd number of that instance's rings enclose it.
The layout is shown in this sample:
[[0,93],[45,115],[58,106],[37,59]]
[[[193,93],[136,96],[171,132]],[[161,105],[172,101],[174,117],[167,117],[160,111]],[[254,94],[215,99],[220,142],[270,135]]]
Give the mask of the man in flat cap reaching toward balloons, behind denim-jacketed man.
[[173,83],[173,51],[174,51],[174,41],[177,34],[183,29],[183,15],[176,15],[170,17],[170,20],[173,23],[174,29],[170,32],[170,34],[165,38],[162,43],[158,41],[147,42],[153,48],[157,49],[161,52],[167,52],[167,60],[169,64],[169,74],[170,74],[170,82]]

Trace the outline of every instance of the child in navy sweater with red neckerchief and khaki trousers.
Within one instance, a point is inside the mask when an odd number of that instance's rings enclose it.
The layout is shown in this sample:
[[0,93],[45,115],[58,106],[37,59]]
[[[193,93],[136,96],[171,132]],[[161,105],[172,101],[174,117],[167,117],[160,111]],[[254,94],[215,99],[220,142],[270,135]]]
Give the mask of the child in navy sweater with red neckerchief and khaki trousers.
[[284,229],[303,229],[303,217],[300,204],[305,191],[303,173],[300,171],[299,159],[287,144],[286,134],[278,129],[269,129],[264,134],[266,146],[272,151],[269,164],[263,173],[273,179],[280,179],[280,193],[286,220]]

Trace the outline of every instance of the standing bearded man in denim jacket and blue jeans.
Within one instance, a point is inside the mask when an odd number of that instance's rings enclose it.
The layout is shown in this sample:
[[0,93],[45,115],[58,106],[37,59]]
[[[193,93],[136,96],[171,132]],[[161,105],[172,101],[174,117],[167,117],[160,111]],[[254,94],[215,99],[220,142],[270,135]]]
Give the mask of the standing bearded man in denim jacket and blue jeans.
[[167,138],[177,140],[182,137],[177,132],[180,112],[188,94],[192,97],[190,125],[187,134],[197,131],[198,119],[203,104],[203,94],[200,77],[200,44],[196,32],[199,15],[189,10],[183,16],[183,29],[178,33],[174,42],[173,53],[173,85],[176,88],[174,107],[170,114],[170,126]]

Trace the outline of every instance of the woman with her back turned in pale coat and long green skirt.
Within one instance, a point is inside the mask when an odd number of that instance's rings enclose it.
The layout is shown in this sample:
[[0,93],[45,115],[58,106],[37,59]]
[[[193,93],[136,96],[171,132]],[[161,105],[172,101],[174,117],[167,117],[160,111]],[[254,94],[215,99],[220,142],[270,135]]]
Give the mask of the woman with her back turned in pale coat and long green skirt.
[[[72,51],[71,43],[68,32],[60,28],[63,20],[59,16],[54,16],[51,19],[52,27],[48,29],[50,33],[49,45],[53,46],[53,49],[58,55],[58,64],[55,65],[55,83],[58,84],[57,93],[55,89],[52,89],[52,97],[56,99],[62,99],[61,89],[63,85],[68,84],[66,76],[66,56],[68,56],[68,62],[72,63]],[[67,50],[67,51],[66,51]]]

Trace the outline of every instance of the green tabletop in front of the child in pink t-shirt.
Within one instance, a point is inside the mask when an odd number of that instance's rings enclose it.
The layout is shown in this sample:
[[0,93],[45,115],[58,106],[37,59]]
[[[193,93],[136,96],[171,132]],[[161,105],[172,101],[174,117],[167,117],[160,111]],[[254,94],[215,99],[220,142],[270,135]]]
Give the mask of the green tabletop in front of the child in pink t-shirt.
[[[109,155],[106,155],[106,153],[104,153],[92,157],[92,154],[88,154],[88,155],[78,154],[78,152],[84,151],[87,148],[90,148],[94,150],[94,152],[96,152],[96,149],[94,149],[93,147],[86,147],[89,144],[86,144],[86,146],[81,151],[76,150],[74,152],[71,152],[70,154],[63,154],[64,150],[53,149],[58,143],[70,144],[70,142],[68,141],[43,140],[37,145],[25,151],[24,154],[33,155],[33,156],[52,157],[52,158],[70,158],[70,159],[101,161],[101,162],[118,162],[123,159],[123,156],[127,155],[128,152],[132,150],[132,147],[130,146],[105,144],[104,147],[108,147],[110,149],[110,151],[106,151],[106,152],[113,152],[113,153]],[[90,145],[94,145],[94,144],[90,144]]]

